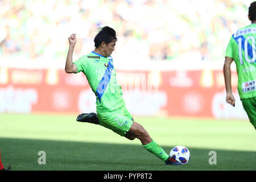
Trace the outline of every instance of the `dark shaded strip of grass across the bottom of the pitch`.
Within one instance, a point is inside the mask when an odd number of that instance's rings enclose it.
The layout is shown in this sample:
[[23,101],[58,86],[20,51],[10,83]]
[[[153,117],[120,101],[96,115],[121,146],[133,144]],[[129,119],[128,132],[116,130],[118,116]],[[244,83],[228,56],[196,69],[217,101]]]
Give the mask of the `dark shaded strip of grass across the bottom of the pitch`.
[[[170,152],[174,146],[162,146]],[[141,145],[88,143],[38,139],[0,138],[2,162],[13,170],[256,170],[256,152],[188,147],[191,161],[184,166],[166,166]],[[46,152],[46,164],[39,164]],[[216,151],[217,164],[210,165],[209,151]],[[210,159],[214,160],[214,159]]]

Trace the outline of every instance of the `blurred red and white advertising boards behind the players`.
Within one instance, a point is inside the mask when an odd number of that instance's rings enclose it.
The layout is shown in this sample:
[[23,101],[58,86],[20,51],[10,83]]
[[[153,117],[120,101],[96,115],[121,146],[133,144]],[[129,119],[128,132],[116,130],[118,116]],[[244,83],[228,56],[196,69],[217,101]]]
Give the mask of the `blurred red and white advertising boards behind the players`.
[[[247,118],[232,72],[236,107],[225,102],[222,71],[117,71],[131,114]],[[55,69],[0,68],[1,113],[96,111],[96,97],[83,73]]]

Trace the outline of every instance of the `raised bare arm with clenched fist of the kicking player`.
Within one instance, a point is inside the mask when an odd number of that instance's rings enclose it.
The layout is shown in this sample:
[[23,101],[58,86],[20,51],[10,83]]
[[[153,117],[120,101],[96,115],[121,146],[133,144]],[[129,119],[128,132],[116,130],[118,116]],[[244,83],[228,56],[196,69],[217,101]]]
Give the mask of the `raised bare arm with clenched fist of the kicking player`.
[[66,65],[65,65],[65,72],[66,73],[76,73],[77,72],[77,67],[76,64],[73,64],[73,51],[76,45],[76,34],[72,34],[69,38],[69,49],[68,49],[68,55],[67,55],[67,60],[66,60]]

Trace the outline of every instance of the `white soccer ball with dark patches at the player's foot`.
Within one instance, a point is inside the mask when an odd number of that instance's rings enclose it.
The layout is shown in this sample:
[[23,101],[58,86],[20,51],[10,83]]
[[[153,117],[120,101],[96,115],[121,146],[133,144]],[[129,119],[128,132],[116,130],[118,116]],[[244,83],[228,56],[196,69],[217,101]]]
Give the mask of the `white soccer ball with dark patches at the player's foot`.
[[190,152],[187,147],[176,146],[172,148],[170,152],[170,157],[172,158],[172,162],[174,162],[174,165],[183,165],[189,162]]

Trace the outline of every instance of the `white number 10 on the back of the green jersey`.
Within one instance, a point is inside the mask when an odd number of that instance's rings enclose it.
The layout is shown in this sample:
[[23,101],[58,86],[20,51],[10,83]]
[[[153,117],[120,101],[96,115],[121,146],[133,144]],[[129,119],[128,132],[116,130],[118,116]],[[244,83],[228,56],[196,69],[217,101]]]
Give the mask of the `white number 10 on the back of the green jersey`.
[[[251,52],[252,57],[251,59],[249,58],[249,53],[248,53],[248,41],[251,40]],[[240,59],[240,64],[243,65],[243,57],[242,57],[242,38],[237,39],[238,42],[238,49],[239,49],[239,59]],[[248,63],[253,63],[256,60],[256,51],[255,51],[255,38],[253,36],[247,36],[244,42],[245,45],[245,60]]]

